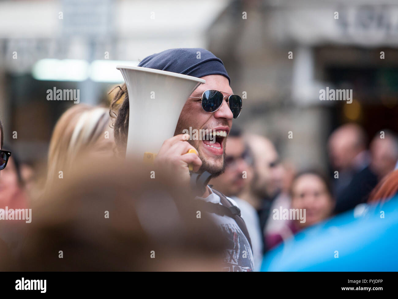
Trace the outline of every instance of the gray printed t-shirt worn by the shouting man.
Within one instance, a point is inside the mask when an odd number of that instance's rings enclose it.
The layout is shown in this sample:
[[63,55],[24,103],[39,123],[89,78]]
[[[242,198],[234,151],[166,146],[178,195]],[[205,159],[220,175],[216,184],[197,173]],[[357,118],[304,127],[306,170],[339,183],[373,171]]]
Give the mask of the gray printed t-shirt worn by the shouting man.
[[[211,192],[211,194],[206,197],[196,197],[197,199],[202,199],[207,202],[219,203],[220,197]],[[236,202],[227,197],[233,205],[238,205]],[[215,222],[220,226],[220,229],[228,237],[228,246],[224,251],[224,263],[225,271],[234,272],[251,272],[254,271],[253,253],[252,248],[250,248],[249,241],[246,236],[242,233],[236,221],[228,216],[220,216],[215,213],[211,213],[214,217]]]

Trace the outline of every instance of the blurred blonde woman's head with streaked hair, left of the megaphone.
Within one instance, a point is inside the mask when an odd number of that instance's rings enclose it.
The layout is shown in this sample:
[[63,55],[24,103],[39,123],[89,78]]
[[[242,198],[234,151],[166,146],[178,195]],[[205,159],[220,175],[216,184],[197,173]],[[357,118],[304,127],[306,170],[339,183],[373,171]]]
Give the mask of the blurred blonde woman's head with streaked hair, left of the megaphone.
[[64,177],[81,155],[98,155],[106,165],[113,156],[113,147],[109,109],[84,104],[69,108],[57,121],[51,137],[46,187],[51,188],[55,180]]

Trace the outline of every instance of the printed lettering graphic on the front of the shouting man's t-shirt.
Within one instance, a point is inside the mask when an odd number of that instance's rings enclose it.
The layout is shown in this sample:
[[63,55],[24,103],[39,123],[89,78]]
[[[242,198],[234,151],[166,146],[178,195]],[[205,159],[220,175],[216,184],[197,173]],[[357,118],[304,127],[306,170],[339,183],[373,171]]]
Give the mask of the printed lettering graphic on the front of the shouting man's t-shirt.
[[228,246],[225,250],[225,271],[252,272],[253,256],[250,244],[236,223],[220,225],[222,231],[228,236]]

